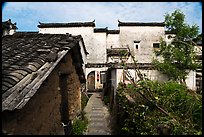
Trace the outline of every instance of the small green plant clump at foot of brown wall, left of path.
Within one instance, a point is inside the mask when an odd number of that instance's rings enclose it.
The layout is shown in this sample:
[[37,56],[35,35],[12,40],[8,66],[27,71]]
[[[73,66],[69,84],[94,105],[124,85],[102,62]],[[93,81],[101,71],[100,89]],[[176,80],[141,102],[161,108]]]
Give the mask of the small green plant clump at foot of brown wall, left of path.
[[83,135],[88,126],[88,119],[85,117],[84,112],[73,121],[72,131],[73,135]]

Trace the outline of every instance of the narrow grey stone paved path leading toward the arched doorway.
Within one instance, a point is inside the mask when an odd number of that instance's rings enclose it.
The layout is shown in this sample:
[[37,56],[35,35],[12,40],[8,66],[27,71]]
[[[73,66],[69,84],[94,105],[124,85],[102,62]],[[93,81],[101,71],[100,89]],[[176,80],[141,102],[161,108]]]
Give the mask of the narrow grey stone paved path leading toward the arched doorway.
[[110,114],[100,93],[93,93],[84,111],[89,122],[86,135],[111,135]]

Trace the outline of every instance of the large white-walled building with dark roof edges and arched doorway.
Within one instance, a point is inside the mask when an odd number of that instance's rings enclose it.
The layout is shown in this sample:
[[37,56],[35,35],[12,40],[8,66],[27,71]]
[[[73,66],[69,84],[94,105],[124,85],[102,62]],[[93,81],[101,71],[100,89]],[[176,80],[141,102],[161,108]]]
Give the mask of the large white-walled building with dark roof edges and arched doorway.
[[[108,30],[108,28],[95,28],[93,22],[73,22],[73,23],[40,23],[39,33],[50,34],[72,34],[83,37],[88,51],[86,63],[87,88],[95,90],[103,87],[104,72],[111,64],[116,65],[115,72],[112,72],[112,86],[116,90],[118,83],[122,80],[122,68],[119,67],[119,56],[121,51],[128,51],[130,48],[132,55],[137,60],[139,68],[146,77],[152,80],[165,81],[167,78],[151,66],[153,51],[159,48],[160,39],[163,38],[169,43],[174,34],[165,31],[163,22],[121,22],[118,21],[118,30]],[[161,58],[160,58],[161,59]],[[126,63],[133,63],[131,57]],[[133,73],[133,68],[129,67],[135,80],[137,76]],[[189,88],[196,89],[196,73],[191,71],[186,83]]]

